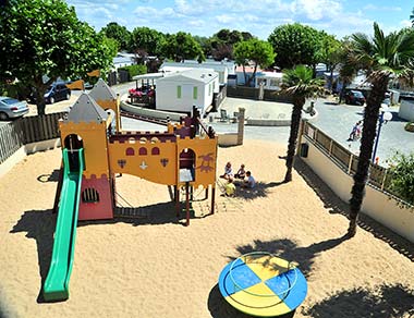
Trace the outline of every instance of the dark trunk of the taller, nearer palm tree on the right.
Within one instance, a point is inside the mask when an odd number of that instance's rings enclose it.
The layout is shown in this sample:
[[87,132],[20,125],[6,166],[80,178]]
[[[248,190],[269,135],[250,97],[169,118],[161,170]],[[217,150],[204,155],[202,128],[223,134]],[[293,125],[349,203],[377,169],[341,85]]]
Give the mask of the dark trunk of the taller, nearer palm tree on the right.
[[354,236],[356,233],[357,217],[365,195],[365,185],[368,178],[369,162],[377,131],[379,108],[389,82],[389,75],[387,73],[378,75],[379,76],[375,76],[372,82],[373,90],[365,107],[360,159],[354,175],[354,185],[351,191],[352,197],[350,199],[350,228],[348,229],[348,234],[350,236]]

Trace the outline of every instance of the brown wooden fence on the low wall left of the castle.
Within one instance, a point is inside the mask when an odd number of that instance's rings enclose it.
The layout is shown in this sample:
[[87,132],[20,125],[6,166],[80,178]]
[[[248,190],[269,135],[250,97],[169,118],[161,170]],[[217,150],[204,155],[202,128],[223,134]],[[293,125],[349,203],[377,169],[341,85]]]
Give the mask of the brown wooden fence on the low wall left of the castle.
[[58,138],[59,119],[66,112],[25,117],[0,127],[0,163],[4,162],[23,145]]

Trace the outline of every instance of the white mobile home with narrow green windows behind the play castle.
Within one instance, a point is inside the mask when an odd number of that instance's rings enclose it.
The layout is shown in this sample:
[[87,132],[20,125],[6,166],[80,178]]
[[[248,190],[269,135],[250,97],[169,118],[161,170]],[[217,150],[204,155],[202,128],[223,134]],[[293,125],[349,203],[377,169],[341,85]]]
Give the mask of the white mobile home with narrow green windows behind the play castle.
[[202,114],[219,91],[219,78],[211,70],[187,70],[157,80],[156,108],[159,110],[191,112],[196,106]]

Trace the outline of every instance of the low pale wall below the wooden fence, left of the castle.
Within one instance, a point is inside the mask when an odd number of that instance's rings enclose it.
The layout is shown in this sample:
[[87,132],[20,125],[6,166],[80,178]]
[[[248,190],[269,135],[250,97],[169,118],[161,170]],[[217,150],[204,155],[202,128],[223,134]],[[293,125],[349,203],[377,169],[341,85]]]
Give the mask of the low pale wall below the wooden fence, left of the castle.
[[37,151],[45,151],[48,149],[54,149],[60,147],[60,138],[32,143],[22,146],[17,151],[15,151],[10,158],[8,158],[3,163],[0,164],[0,178],[8,173],[12,168],[26,158],[27,155]]

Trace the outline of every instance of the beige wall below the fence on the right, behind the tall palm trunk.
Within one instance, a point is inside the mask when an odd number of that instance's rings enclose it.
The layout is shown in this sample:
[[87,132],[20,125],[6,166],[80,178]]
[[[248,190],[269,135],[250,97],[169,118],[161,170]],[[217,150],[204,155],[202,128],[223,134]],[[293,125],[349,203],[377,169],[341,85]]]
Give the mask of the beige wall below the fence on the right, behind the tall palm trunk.
[[[306,138],[303,137],[302,142]],[[307,142],[309,150],[303,160],[344,201],[351,198],[353,179],[321,150]],[[372,186],[366,186],[362,211],[414,243],[414,211],[398,207],[398,201]]]

